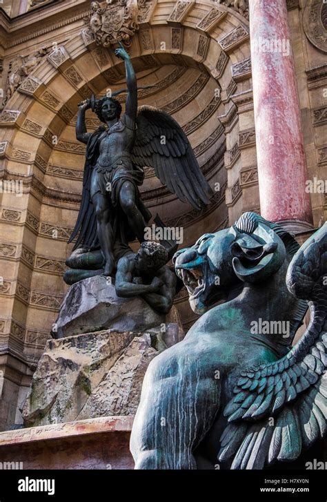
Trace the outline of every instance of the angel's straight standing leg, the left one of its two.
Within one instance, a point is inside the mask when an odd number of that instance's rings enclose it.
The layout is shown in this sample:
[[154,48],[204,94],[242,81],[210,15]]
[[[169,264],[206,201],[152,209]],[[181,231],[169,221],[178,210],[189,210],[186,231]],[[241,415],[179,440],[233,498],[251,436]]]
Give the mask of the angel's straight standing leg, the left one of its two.
[[109,202],[101,193],[95,193],[92,198],[92,203],[95,206],[95,214],[97,215],[97,234],[101,250],[106,260],[103,275],[110,276],[115,267],[115,258],[112,253],[114,238],[110,225]]

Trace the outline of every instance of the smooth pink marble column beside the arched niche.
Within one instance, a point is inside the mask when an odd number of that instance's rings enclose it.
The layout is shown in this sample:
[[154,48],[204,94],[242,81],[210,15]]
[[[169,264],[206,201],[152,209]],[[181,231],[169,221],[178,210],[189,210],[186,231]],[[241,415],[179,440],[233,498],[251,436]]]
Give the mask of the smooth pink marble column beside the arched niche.
[[310,228],[310,194],[286,0],[249,0],[261,215]]

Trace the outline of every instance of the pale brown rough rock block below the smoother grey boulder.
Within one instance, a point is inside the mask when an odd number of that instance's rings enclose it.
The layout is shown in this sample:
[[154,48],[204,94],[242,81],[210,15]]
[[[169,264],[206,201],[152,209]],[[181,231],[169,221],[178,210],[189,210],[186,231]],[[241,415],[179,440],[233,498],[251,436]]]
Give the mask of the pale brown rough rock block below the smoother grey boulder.
[[177,341],[176,331],[171,323],[164,333],[108,329],[48,340],[21,409],[24,424],[134,415],[150,360]]

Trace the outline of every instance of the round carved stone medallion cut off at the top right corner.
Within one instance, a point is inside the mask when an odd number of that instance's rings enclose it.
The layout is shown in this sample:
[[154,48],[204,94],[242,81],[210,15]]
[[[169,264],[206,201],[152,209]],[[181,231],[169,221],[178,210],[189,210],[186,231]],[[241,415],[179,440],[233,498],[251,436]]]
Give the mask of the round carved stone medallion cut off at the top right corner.
[[309,0],[304,9],[304,32],[313,44],[327,52],[327,3]]

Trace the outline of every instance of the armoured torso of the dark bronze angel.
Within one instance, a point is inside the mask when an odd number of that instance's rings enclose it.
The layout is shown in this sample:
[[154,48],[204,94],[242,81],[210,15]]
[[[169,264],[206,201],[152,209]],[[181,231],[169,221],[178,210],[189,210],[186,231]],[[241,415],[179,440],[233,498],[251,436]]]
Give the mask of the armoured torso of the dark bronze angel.
[[122,117],[99,136],[99,157],[97,164],[110,166],[120,157],[129,157],[135,142],[136,129],[128,128]]

